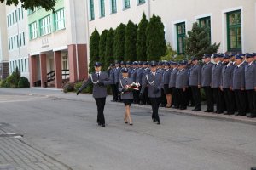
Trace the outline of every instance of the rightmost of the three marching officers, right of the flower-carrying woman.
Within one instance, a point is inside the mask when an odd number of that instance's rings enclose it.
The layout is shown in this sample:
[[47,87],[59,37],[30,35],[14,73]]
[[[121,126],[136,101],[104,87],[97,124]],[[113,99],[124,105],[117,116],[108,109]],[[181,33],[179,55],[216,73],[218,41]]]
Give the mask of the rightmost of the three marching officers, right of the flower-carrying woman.
[[163,87],[163,80],[162,75],[156,71],[156,66],[156,62],[151,61],[150,73],[146,75],[140,95],[143,95],[145,88],[148,87],[148,97],[151,101],[151,106],[153,110],[152,120],[153,122],[160,124],[158,110],[161,97],[161,88]]

